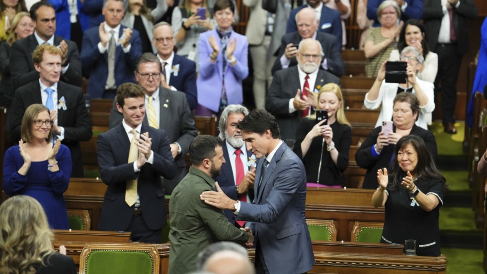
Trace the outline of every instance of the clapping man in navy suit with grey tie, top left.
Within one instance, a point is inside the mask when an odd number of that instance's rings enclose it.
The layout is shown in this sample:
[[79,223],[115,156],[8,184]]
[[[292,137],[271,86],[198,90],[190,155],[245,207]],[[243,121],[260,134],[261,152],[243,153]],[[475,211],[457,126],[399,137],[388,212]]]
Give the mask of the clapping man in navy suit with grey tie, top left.
[[105,22],[84,32],[81,64],[89,77],[90,97],[113,99],[118,86],[135,81],[133,71],[142,55],[142,42],[137,30],[120,24],[122,0],[106,0],[102,13]]

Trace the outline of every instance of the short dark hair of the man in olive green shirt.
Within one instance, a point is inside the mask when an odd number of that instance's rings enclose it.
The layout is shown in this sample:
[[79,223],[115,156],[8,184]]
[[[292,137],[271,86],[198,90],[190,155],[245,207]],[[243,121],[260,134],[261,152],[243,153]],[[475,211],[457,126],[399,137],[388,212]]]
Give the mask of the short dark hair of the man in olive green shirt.
[[213,159],[217,153],[215,148],[221,147],[223,141],[211,135],[198,135],[189,145],[189,158],[191,165],[200,166],[203,160]]

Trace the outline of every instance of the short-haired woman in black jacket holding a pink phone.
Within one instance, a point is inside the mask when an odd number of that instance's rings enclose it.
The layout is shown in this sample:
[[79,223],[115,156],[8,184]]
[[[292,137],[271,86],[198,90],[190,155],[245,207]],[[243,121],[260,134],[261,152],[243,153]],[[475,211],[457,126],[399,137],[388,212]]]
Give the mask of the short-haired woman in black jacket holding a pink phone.
[[357,165],[367,169],[363,188],[377,188],[377,170],[390,167],[394,147],[403,136],[413,134],[422,138],[431,153],[431,158],[436,160],[438,152],[433,133],[414,123],[419,109],[419,101],[411,92],[396,95],[392,114],[393,132],[382,132],[382,127],[376,127],[355,154]]

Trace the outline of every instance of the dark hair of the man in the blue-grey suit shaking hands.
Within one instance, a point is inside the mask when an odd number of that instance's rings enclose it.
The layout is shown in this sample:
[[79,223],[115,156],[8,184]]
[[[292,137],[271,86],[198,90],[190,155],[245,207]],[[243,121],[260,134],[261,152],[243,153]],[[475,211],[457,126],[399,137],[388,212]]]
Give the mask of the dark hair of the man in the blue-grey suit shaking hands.
[[246,115],[237,125],[237,128],[243,132],[254,132],[259,135],[270,130],[272,138],[281,138],[281,131],[277,124],[276,118],[265,109],[254,109]]

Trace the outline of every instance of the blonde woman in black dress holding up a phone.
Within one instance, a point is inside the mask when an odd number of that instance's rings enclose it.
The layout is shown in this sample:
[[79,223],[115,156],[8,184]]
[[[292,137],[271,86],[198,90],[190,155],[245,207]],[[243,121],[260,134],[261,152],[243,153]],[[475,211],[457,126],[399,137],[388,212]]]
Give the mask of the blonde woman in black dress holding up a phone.
[[330,83],[320,89],[317,97],[317,110],[327,111],[328,120],[317,123],[316,112],[301,119],[294,152],[303,160],[308,186],[342,187],[352,142],[352,129],[343,112],[343,95],[338,85]]

